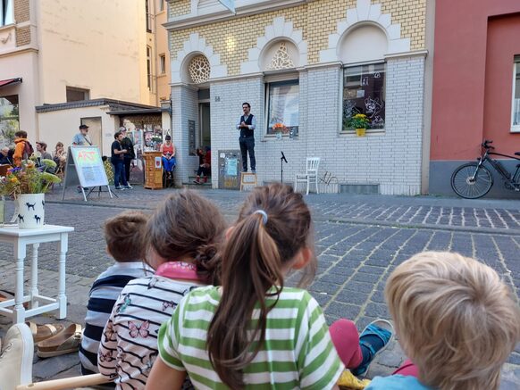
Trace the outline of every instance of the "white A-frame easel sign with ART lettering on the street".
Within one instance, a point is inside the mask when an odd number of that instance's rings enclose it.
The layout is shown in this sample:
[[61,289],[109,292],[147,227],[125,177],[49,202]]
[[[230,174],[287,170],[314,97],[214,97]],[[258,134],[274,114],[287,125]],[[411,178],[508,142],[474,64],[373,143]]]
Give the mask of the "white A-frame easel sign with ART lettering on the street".
[[[76,186],[81,188],[85,202],[87,202],[87,196],[94,190],[94,187],[106,186],[108,194],[112,198],[105,165],[97,146],[69,146],[62,200],[65,198],[65,189]],[[85,194],[85,188],[90,188],[88,195]]]

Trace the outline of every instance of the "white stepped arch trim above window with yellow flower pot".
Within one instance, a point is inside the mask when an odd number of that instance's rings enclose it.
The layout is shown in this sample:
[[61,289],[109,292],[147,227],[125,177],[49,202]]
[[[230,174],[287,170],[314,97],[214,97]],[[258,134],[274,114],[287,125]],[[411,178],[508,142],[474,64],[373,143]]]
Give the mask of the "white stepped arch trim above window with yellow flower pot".
[[339,21],[336,32],[329,35],[329,46],[320,51],[320,62],[340,61],[338,49],[341,39],[363,24],[372,24],[384,31],[388,39],[387,54],[410,51],[410,38],[401,37],[401,25],[392,24],[390,13],[381,13],[381,4],[371,4],[371,0],[357,0],[356,8],[348,9],[347,19]]

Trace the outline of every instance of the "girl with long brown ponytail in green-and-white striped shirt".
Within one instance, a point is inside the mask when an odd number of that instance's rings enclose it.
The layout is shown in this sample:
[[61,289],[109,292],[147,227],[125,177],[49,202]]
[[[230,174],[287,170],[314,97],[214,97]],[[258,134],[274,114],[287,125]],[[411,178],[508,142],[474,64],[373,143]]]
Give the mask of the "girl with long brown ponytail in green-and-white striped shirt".
[[311,213],[302,195],[281,184],[256,187],[226,232],[222,287],[182,298],[159,331],[160,359],[147,389],[331,389],[343,365],[323,312],[301,285],[315,275]]

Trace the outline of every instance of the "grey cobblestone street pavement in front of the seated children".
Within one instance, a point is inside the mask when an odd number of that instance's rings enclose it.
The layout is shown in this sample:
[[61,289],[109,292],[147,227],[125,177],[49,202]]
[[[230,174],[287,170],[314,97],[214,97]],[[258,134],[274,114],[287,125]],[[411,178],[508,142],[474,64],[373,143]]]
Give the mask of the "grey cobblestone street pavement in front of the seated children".
[[[218,203],[228,220],[233,220],[244,195],[238,192],[205,190]],[[135,190],[118,193],[119,199],[95,195],[88,204],[67,198],[53,203],[61,194],[47,195],[47,223],[76,228],[71,235],[67,258],[67,320],[83,322],[88,288],[94,278],[112,263],[105,253],[101,224],[126,208],[152,210],[166,191]],[[322,305],[327,321],[352,319],[361,330],[378,317],[389,318],[383,298],[390,272],[414,253],[451,250],[473,256],[490,265],[520,294],[520,202],[462,201],[430,197],[311,195],[306,197],[315,218],[319,268],[309,287]],[[56,285],[57,264],[53,245],[40,245],[43,293]],[[12,249],[0,245],[0,286],[13,290]],[[30,254],[29,254],[30,256]],[[29,276],[29,273],[26,273]],[[296,283],[298,275],[289,278]],[[50,316],[40,316],[39,323]],[[50,319],[51,321],[53,319]],[[7,319],[0,318],[2,332]],[[386,375],[398,367],[404,354],[397,343],[382,353],[369,376]],[[62,378],[78,374],[78,358],[35,358],[34,378]],[[504,368],[502,389],[520,386],[520,345]]]

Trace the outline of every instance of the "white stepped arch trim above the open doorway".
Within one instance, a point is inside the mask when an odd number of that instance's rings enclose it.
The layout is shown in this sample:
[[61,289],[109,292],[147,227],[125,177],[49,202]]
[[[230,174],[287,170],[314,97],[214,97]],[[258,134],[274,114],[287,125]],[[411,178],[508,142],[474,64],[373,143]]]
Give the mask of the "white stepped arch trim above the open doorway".
[[213,51],[213,47],[205,44],[205,38],[198,33],[189,35],[182,49],[177,52],[176,58],[171,63],[172,83],[182,82],[182,70],[188,66],[189,60],[197,54],[203,54],[211,65],[210,79],[219,79],[228,75],[228,67],[221,63],[221,55]]

